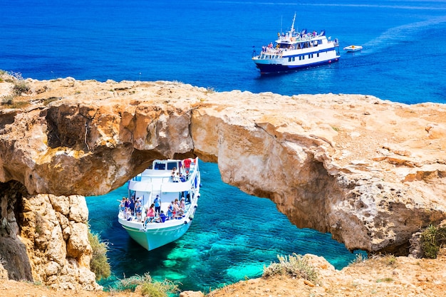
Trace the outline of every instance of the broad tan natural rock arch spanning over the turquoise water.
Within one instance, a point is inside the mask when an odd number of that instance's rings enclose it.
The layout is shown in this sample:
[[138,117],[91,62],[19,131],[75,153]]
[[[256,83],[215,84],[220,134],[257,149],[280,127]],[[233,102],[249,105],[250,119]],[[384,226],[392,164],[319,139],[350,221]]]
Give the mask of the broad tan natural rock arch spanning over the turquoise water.
[[445,105],[170,82],[28,84],[14,99],[27,105],[0,110],[0,182],[31,194],[104,194],[155,158],[197,155],[351,250],[408,254],[412,234],[446,218]]

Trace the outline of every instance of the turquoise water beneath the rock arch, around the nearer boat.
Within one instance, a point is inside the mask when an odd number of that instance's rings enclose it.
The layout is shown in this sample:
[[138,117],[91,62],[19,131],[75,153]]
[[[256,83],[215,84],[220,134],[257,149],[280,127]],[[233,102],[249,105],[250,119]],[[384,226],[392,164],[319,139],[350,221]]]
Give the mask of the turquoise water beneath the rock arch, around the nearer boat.
[[110,244],[115,278],[142,275],[179,281],[184,290],[207,291],[245,277],[261,275],[264,265],[277,255],[316,254],[337,269],[356,258],[343,244],[311,229],[298,229],[269,199],[244,194],[224,184],[216,164],[201,162],[202,188],[199,207],[185,236],[172,244],[146,251],[118,224],[117,199],[126,186],[98,197],[87,197],[91,229]]

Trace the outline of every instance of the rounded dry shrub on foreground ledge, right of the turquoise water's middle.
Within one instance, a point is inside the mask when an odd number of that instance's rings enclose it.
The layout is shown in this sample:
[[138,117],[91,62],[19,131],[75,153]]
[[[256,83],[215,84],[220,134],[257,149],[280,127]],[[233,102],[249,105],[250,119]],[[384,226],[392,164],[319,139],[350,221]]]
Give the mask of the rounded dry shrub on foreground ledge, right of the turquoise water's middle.
[[293,254],[288,258],[286,256],[277,256],[277,259],[279,259],[279,263],[273,263],[268,267],[264,267],[262,277],[289,275],[318,283],[318,272],[313,266],[308,264],[308,259],[303,256]]

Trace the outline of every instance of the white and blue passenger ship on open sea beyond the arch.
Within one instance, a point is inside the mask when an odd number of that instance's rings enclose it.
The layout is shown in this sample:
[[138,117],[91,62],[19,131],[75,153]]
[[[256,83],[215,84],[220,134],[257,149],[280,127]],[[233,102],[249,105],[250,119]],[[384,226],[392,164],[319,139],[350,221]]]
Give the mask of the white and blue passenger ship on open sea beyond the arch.
[[301,68],[320,66],[337,62],[339,43],[326,37],[325,31],[307,32],[306,29],[296,32],[293,24],[286,33],[277,33],[276,43],[263,46],[261,53],[254,50],[252,61],[256,63],[260,73],[277,73],[282,71],[295,71]]

